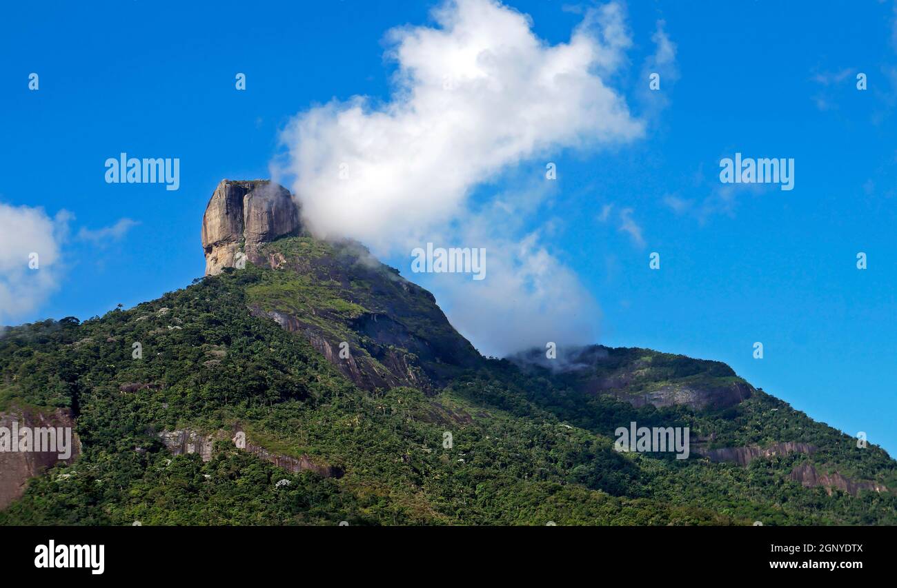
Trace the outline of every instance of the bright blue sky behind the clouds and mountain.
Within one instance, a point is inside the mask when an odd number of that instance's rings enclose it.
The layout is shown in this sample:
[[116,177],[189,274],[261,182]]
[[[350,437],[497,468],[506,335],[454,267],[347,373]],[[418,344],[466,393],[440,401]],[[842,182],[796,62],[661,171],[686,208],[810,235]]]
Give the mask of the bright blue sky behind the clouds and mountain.
[[[395,101],[387,32],[436,26],[437,5],[22,4],[3,8],[11,24],[0,37],[0,203],[56,217],[58,255],[53,279],[17,290],[27,303],[0,323],[101,315],[201,276],[200,220],[217,182],[270,177],[285,149],[281,132],[300,113],[359,95],[373,108]],[[584,18],[573,4],[508,4],[530,15],[545,47],[570,40]],[[581,324],[606,345],[725,361],[814,419],[866,431],[894,454],[895,10],[623,5],[631,45],[602,80],[643,133],[599,146],[558,141],[499,165],[468,190],[460,218],[476,218],[496,195],[536,193],[506,237],[537,232],[550,263],[594,298],[588,312],[565,316],[571,328]],[[647,92],[658,30],[675,59],[661,90]],[[235,90],[239,72],[246,91]],[[856,87],[860,72],[866,91]],[[38,91],[28,88],[30,73],[39,73]],[[179,158],[179,190],[107,184],[103,162],[121,151]],[[793,158],[795,188],[728,191],[718,164],[736,151]],[[557,166],[551,186],[547,161]],[[410,273],[401,247],[377,251],[433,290],[482,350],[502,349],[490,334],[501,325],[477,331],[464,316],[479,284],[459,290],[457,276]],[[861,251],[865,271],[856,267]],[[659,271],[649,270],[651,252],[661,255]],[[763,359],[753,359],[753,342],[763,343]]]

